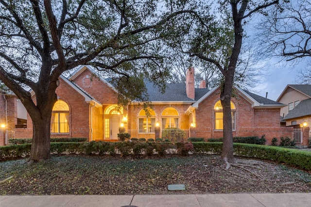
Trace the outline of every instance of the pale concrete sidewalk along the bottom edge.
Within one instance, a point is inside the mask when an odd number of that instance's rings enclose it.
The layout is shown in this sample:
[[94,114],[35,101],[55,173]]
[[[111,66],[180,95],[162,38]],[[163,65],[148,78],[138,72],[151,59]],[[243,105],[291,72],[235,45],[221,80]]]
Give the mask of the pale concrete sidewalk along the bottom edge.
[[0,207],[311,207],[311,193],[183,195],[14,195]]

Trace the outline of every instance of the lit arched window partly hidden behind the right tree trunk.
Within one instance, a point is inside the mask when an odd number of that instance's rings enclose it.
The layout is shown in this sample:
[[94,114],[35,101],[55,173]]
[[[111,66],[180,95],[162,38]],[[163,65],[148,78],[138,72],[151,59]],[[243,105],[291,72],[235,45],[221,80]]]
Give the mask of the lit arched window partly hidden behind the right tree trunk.
[[[232,130],[235,130],[235,105],[231,101],[230,102],[230,107],[231,107],[231,117],[232,117]],[[214,111],[215,111],[215,129],[216,130],[223,130],[224,129],[224,113],[223,113],[223,106],[219,101],[214,106]]]

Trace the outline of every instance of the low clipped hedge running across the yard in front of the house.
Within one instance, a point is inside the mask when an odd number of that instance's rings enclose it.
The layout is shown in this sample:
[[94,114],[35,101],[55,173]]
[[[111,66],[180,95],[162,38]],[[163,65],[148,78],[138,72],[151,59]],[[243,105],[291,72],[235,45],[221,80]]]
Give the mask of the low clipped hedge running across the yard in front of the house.
[[[188,155],[189,152],[205,154],[221,154],[223,143],[208,142],[86,142],[86,143],[51,143],[51,154],[85,154],[85,155],[110,155],[121,154],[152,156],[158,154],[179,153]],[[286,163],[303,170],[311,171],[311,152],[297,149],[288,149],[277,146],[258,144],[233,143],[234,155],[256,159],[269,159]],[[30,155],[31,144],[17,144],[0,147],[0,161],[8,159],[20,159]]]

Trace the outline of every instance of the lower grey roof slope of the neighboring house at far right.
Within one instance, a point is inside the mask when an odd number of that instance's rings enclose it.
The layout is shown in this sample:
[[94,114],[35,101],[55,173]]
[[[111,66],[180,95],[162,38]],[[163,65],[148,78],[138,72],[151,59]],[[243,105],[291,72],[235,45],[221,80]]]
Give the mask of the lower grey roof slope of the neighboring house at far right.
[[302,116],[311,115],[311,98],[302,100],[300,103],[294,107],[293,110],[289,111],[288,114],[283,118],[283,120],[294,119]]

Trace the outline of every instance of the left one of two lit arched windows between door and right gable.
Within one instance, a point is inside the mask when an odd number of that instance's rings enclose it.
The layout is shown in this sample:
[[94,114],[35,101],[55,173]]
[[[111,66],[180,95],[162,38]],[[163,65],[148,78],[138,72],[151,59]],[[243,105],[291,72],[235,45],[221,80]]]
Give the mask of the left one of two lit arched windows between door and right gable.
[[138,114],[139,133],[155,133],[155,111],[148,108],[149,116],[145,110],[140,110]]

